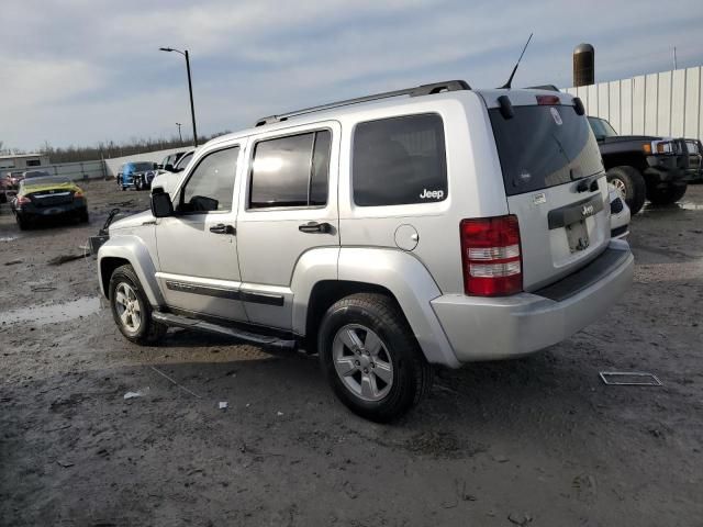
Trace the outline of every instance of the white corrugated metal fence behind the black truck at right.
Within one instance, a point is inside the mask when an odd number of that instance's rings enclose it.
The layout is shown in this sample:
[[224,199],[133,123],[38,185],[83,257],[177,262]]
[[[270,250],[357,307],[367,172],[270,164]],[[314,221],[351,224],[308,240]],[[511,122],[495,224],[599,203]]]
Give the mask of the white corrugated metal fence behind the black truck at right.
[[620,134],[703,138],[703,67],[568,88]]

